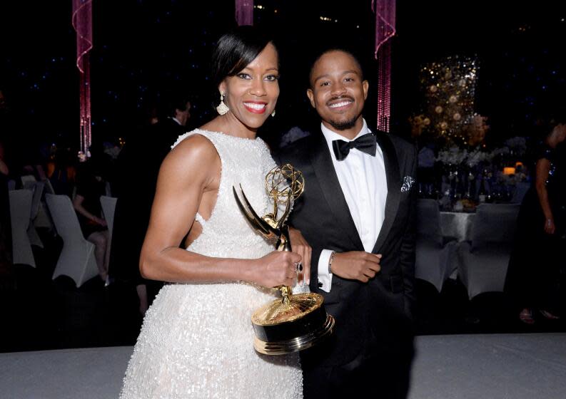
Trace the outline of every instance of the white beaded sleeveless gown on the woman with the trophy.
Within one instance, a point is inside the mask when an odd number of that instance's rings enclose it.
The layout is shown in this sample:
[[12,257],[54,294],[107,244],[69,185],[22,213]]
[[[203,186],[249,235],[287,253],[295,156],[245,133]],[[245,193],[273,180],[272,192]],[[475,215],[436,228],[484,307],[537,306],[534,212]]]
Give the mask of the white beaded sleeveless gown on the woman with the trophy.
[[[212,215],[208,221],[196,215],[203,232],[187,250],[241,259],[273,251],[273,243],[243,217],[232,192],[242,185],[256,212],[268,212],[264,177],[276,164],[265,142],[197,129],[172,147],[193,134],[211,140],[222,171]],[[251,314],[274,298],[276,290],[246,282],[164,286],[143,320],[120,397],[302,398],[298,354],[264,356],[253,349]]]

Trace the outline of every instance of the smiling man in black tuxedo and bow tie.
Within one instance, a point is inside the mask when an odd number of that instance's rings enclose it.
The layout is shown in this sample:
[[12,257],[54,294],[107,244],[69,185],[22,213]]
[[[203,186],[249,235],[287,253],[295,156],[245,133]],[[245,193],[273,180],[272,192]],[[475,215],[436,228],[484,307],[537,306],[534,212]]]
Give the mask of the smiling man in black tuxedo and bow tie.
[[332,338],[301,353],[305,398],[405,398],[413,358],[415,147],[368,129],[368,82],[347,51],[325,51],[315,61],[307,95],[321,131],[285,147],[279,160],[305,177],[290,224],[312,247],[310,290],[324,296],[336,323]]

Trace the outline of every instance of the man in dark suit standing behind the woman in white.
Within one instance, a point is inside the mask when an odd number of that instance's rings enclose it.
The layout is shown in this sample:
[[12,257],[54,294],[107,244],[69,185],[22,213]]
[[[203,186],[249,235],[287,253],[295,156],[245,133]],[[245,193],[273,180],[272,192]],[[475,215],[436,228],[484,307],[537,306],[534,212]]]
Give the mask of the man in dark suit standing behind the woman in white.
[[178,136],[186,133],[190,110],[188,98],[173,93],[163,103],[158,122],[129,139],[118,155],[118,179],[112,189],[118,201],[110,273],[114,279],[136,286],[141,316],[151,304],[153,291],[161,288],[161,284],[142,279],[139,271],[141,245],[149,224],[159,167]]

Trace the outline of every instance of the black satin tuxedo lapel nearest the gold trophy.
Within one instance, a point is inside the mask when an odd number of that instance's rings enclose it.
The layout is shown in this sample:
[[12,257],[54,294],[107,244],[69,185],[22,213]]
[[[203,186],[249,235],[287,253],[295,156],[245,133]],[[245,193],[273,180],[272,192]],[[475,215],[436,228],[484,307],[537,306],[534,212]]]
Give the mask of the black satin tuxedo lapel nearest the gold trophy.
[[[340,187],[340,182],[338,182],[338,176],[334,170],[332,158],[330,158],[331,155],[328,150],[328,145],[324,140],[323,134],[318,134],[320,136],[313,140],[315,144],[313,151],[310,152],[310,162],[313,164],[316,179],[318,180],[320,188],[323,190],[326,202],[328,202],[338,224],[340,224],[340,227],[348,234],[348,237],[350,237],[355,247],[363,250],[363,244],[358,235],[358,229],[355,228],[354,220],[350,214],[350,208],[348,208],[348,203]],[[308,185],[308,182],[306,182],[306,184]]]

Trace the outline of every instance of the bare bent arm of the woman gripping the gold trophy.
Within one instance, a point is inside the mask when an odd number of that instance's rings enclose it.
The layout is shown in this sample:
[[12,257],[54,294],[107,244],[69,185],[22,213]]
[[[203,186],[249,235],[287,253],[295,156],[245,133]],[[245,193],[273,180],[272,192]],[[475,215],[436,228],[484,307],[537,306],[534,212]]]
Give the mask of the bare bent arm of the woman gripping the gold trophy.
[[271,252],[260,259],[226,259],[178,247],[199,207],[212,210],[214,204],[207,201],[216,200],[220,171],[215,147],[201,135],[187,138],[163,160],[141,249],[141,274],[171,282],[243,280],[270,287],[292,285],[294,262],[300,261],[293,252]]

